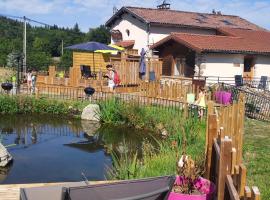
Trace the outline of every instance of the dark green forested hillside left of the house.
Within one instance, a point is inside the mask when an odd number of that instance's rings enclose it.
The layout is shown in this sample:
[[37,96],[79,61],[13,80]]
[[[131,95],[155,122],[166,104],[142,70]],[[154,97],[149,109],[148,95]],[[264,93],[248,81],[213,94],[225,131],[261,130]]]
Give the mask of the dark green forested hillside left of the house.
[[[61,56],[62,40],[64,47],[85,42],[98,41],[109,43],[109,30],[101,25],[89,29],[88,33],[80,31],[76,23],[73,28],[31,26],[27,24],[27,66],[36,69],[46,69],[53,64],[52,57]],[[9,54],[22,52],[23,23],[5,17],[0,17],[0,66],[7,66]],[[61,67],[71,65],[71,52],[64,51],[60,63]]]

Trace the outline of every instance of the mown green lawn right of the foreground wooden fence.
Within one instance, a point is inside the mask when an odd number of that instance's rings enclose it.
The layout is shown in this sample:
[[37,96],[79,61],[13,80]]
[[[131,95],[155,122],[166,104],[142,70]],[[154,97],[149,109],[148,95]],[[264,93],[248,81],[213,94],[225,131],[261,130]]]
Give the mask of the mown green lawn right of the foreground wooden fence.
[[244,161],[248,185],[258,186],[261,199],[270,199],[270,123],[246,120]]

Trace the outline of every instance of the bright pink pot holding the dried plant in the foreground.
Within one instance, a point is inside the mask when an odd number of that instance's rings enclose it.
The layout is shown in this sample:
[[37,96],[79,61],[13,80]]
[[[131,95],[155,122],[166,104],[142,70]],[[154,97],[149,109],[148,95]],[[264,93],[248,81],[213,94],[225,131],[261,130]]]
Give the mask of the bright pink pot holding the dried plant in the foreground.
[[[183,177],[176,177],[175,185],[182,185],[185,180]],[[215,185],[209,180],[204,178],[199,178],[194,183],[195,188],[200,191],[201,195],[189,195],[171,192],[168,200],[211,200],[215,193]]]

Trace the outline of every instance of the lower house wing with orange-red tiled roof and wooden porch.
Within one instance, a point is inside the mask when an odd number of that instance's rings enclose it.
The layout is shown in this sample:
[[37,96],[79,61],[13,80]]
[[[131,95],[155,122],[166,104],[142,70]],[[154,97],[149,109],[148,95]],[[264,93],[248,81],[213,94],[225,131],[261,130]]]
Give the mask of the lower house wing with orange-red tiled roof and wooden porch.
[[152,45],[169,76],[270,77],[270,32],[218,28],[216,35],[171,33]]

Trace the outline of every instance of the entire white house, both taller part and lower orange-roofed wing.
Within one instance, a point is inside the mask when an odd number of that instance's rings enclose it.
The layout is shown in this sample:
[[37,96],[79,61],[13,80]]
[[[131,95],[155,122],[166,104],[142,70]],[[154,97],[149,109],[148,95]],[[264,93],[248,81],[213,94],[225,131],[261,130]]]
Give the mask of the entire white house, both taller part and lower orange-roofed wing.
[[270,77],[270,32],[238,16],[122,7],[106,25],[112,43],[162,58],[163,75]]

